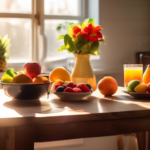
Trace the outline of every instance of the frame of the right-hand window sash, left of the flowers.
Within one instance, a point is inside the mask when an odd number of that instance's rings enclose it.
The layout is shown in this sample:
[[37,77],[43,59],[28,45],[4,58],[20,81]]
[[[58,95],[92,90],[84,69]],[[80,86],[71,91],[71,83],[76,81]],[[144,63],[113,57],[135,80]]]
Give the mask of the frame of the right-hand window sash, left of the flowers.
[[[42,57],[40,58],[40,55],[38,55],[38,61],[44,66],[44,71],[49,71],[54,68],[54,66],[63,66],[67,68],[66,62],[70,58],[64,58],[64,59],[57,59],[57,60],[50,60],[46,58],[46,36],[44,35],[44,21],[50,20],[50,19],[62,19],[62,20],[79,20],[79,22],[82,22],[85,18],[88,16],[88,9],[86,9],[88,6],[88,0],[82,0],[81,6],[80,6],[80,15],[79,16],[67,16],[67,15],[47,15],[44,14],[44,0],[38,1],[37,4],[37,11],[40,13],[40,23],[38,26],[38,54],[41,53]],[[41,50],[42,49],[42,50]],[[51,64],[51,65],[49,65]],[[70,68],[68,68],[70,69]]]

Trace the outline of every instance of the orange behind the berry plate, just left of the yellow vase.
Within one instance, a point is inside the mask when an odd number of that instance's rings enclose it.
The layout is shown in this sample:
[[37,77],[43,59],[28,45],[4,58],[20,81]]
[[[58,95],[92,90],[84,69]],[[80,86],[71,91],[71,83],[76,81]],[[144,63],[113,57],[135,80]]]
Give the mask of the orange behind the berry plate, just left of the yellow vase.
[[49,75],[50,81],[55,82],[57,79],[63,80],[63,81],[71,81],[70,80],[70,73],[63,67],[58,67],[52,70],[52,72]]

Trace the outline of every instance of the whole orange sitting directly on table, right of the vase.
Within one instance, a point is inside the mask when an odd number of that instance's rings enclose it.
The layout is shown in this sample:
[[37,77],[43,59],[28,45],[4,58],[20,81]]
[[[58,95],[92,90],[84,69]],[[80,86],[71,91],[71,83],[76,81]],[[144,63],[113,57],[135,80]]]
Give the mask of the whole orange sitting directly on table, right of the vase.
[[118,89],[117,81],[110,76],[102,78],[98,82],[98,89],[102,95],[111,96],[116,93]]

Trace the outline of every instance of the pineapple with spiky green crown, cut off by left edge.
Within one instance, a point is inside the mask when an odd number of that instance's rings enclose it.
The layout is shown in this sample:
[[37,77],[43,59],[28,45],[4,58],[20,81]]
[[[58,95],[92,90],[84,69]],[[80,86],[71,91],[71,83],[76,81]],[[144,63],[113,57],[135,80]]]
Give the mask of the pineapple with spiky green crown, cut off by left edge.
[[0,37],[0,71],[7,69],[7,59],[9,54],[10,39],[8,35]]

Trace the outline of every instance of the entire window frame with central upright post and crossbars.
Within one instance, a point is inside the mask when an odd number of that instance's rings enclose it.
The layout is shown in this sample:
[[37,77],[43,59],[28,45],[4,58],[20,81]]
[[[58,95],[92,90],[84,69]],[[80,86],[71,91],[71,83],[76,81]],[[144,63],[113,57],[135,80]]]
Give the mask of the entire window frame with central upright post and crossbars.
[[[31,45],[31,55],[32,61],[37,61],[43,66],[43,71],[51,71],[55,66],[63,66],[70,70],[68,61],[70,58],[58,59],[58,60],[48,60],[46,59],[46,36],[44,35],[44,20],[48,19],[64,19],[64,20],[79,20],[82,22],[85,18],[88,18],[89,15],[89,1],[91,0],[82,0],[80,6],[80,15],[79,16],[67,16],[67,15],[47,15],[44,14],[44,0],[31,0],[32,2],[32,11],[31,14],[23,13],[0,13],[0,18],[29,18],[31,19],[32,24],[32,45]],[[91,4],[90,4],[91,5]],[[90,16],[92,17],[92,16]],[[99,18],[98,18],[99,19]],[[99,61],[100,58],[92,60],[95,64]],[[51,65],[50,65],[51,64]],[[22,69],[24,63],[9,63],[8,67]]]

